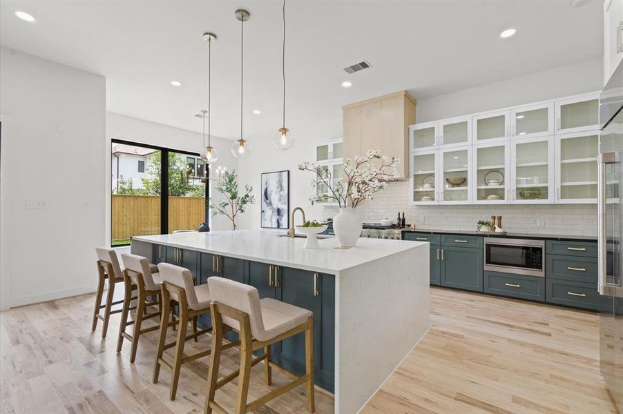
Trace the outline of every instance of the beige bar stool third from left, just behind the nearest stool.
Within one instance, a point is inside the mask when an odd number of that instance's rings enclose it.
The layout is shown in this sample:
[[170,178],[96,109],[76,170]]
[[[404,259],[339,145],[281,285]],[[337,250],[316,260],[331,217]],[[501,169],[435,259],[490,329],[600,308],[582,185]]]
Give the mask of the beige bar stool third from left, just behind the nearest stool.
[[[190,270],[168,263],[158,264],[160,279],[162,280],[161,295],[162,318],[160,319],[160,338],[158,340],[158,351],[156,354],[155,366],[153,368],[153,382],[158,382],[160,366],[164,366],[171,371],[171,393],[169,398],[175,400],[175,393],[178,390],[178,380],[180,379],[180,368],[182,364],[195,359],[210,355],[211,350],[195,353],[194,355],[184,356],[184,343],[189,339],[196,339],[204,333],[209,333],[212,328],[196,331],[196,318],[210,312],[210,293],[208,285],[203,284],[194,286],[193,275]],[[171,306],[171,299],[178,302],[180,319],[178,324],[178,336],[175,342],[166,344],[166,331],[168,328],[168,315]],[[188,323],[193,320],[193,334],[186,336]],[[173,362],[167,362],[164,351],[175,346]]]

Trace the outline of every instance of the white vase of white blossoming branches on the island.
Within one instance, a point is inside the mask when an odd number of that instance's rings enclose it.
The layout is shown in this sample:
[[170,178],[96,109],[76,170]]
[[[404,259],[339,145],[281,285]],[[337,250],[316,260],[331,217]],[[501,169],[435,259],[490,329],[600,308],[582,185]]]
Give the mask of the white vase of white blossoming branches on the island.
[[[396,157],[383,157],[378,150],[368,150],[365,156],[355,155],[344,161],[343,177],[331,177],[331,172],[320,164],[305,162],[298,166],[301,171],[311,171],[316,175],[314,185],[322,186],[327,195],[314,195],[312,201],[334,201],[340,213],[333,219],[333,229],[342,248],[356,244],[361,228],[361,219],[355,208],[364,200],[387,187],[387,181],[398,176]],[[314,188],[315,190],[315,188]]]

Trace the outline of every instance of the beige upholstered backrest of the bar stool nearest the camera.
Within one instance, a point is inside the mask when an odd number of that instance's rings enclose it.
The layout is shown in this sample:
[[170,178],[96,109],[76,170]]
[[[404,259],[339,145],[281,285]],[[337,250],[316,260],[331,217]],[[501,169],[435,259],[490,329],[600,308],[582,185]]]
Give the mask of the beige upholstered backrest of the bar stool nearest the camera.
[[[249,315],[253,337],[262,338],[265,336],[262,308],[260,307],[260,294],[256,288],[217,276],[208,278],[208,288],[213,303],[224,304]],[[222,315],[222,321],[227,326],[240,331],[238,320]]]

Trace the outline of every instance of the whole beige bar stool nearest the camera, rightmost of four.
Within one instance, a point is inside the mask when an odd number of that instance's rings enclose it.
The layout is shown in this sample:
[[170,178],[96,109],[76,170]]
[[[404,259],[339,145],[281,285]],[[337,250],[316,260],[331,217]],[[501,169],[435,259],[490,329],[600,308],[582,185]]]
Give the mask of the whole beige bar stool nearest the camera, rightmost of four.
[[[314,316],[307,309],[298,308],[276,299],[260,299],[253,286],[234,282],[222,277],[209,277],[208,286],[212,298],[212,359],[208,373],[208,386],[204,414],[227,413],[214,401],[215,391],[236,377],[238,396],[236,414],[253,411],[292,388],[306,384],[307,411],[314,412]],[[225,328],[238,331],[240,337],[240,368],[218,380],[218,366]],[[271,384],[270,346],[282,339],[305,332],[305,375],[280,386],[274,391],[247,404],[251,366],[265,361],[265,378]],[[228,344],[231,345],[231,344]],[[253,351],[264,348],[264,354],[253,359]]]

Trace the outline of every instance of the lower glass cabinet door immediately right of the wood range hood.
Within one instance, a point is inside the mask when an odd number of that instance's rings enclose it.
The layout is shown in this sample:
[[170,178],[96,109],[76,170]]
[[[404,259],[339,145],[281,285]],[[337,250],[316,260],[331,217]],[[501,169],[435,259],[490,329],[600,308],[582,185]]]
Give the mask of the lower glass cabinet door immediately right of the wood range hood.
[[412,204],[437,204],[437,151],[411,155]]

